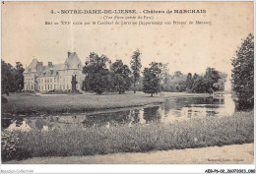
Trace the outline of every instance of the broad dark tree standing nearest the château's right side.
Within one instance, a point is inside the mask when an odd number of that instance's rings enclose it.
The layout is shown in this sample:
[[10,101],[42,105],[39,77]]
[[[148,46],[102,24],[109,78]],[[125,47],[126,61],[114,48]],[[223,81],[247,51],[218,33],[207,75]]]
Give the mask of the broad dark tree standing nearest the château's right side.
[[99,57],[95,52],[90,53],[89,60],[83,68],[83,73],[87,75],[83,83],[84,90],[101,94],[107,89],[109,70],[106,68],[106,62],[110,60],[105,55]]

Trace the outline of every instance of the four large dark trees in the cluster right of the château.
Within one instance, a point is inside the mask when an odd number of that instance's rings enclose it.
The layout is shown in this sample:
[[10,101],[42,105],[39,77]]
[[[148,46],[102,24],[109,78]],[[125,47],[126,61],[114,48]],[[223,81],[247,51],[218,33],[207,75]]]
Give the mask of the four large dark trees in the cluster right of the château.
[[[105,91],[124,93],[127,90],[143,90],[145,93],[158,93],[161,90],[162,81],[166,75],[167,64],[152,62],[150,68],[141,72],[141,52],[133,52],[130,61],[130,68],[122,60],[111,63],[105,55],[98,56],[92,52],[89,60],[83,68],[86,79],[83,82],[83,89],[101,94]],[[110,67],[107,67],[107,64]],[[143,77],[141,77],[141,73]],[[143,87],[140,88],[140,83]]]

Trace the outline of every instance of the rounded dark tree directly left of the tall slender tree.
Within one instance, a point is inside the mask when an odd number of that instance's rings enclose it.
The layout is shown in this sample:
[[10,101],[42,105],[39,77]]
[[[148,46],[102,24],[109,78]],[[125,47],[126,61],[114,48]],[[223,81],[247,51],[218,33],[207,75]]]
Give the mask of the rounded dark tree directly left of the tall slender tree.
[[131,71],[122,60],[116,60],[111,66],[111,87],[120,93],[124,93],[131,87]]

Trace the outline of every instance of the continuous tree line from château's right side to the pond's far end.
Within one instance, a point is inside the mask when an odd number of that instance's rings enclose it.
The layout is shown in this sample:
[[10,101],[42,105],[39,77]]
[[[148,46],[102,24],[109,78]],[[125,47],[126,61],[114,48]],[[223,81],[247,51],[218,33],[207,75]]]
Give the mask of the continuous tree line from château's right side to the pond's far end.
[[141,72],[141,54],[139,50],[133,53],[130,69],[122,60],[116,60],[111,64],[110,59],[105,55],[98,56],[95,52],[91,53],[83,69],[83,73],[87,75],[83,88],[97,94],[105,91],[116,91],[121,94],[130,89],[134,92],[142,90],[152,96],[160,91],[213,93],[216,90],[224,90],[227,75],[214,68],[207,68],[204,75],[192,76],[191,73],[183,75],[177,71],[170,76],[167,73],[168,64],[152,62]]

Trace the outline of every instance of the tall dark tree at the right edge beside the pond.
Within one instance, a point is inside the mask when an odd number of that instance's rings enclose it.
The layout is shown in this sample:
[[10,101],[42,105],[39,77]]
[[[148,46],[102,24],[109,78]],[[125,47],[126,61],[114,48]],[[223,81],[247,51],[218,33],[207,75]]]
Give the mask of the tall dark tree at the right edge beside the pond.
[[241,108],[251,108],[254,103],[254,35],[250,33],[236,51],[232,61],[231,83]]

